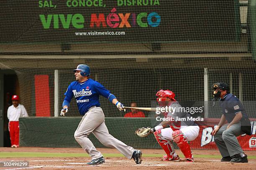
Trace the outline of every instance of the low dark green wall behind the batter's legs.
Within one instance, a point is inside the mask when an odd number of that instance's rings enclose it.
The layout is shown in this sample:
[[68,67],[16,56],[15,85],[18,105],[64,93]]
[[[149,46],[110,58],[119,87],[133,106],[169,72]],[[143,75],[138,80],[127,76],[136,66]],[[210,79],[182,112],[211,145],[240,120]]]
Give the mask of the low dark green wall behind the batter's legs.
[[[21,117],[20,146],[80,147],[74,139],[74,132],[81,119],[82,117]],[[111,135],[133,148],[160,148],[153,134],[146,138],[134,134],[137,128],[157,125],[154,118],[105,117],[105,123]],[[95,147],[104,147],[93,134],[89,138]]]

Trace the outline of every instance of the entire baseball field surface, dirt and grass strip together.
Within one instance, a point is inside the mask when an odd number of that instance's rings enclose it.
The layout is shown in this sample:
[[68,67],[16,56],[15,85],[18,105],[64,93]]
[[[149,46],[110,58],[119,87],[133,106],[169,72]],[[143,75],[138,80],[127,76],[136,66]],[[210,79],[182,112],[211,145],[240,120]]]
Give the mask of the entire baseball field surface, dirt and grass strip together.
[[221,156],[218,150],[192,150],[195,162],[184,162],[184,156],[177,150],[181,161],[162,161],[164,150],[141,149],[143,152],[141,165],[136,165],[133,160],[126,159],[116,149],[97,148],[104,156],[105,163],[101,165],[86,165],[90,161],[82,148],[0,148],[1,161],[28,161],[28,168],[0,168],[5,170],[255,170],[256,152],[246,151],[249,163],[220,162]]

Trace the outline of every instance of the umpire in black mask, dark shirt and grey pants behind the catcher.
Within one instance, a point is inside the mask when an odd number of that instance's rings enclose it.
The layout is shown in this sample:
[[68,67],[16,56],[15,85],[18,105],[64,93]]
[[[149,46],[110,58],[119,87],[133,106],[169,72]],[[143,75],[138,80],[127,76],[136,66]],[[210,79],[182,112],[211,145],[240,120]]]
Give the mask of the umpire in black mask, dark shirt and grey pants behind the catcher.
[[[248,122],[248,115],[240,100],[230,93],[227,83],[216,82],[212,85],[212,89],[214,100],[220,98],[223,114],[218,126],[212,131],[214,141],[223,157],[221,162],[248,163],[247,155],[243,152],[236,138],[245,134],[245,131],[242,130],[242,123],[244,120]],[[227,124],[225,124],[226,120],[228,121]]]

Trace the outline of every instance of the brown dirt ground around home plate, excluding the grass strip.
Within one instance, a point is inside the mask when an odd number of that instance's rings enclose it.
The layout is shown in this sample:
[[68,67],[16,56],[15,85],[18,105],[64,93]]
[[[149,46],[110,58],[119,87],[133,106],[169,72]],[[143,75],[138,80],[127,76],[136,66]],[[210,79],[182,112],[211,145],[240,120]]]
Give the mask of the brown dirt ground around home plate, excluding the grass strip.
[[[116,149],[98,148],[101,153],[119,153]],[[162,154],[163,150],[141,149],[143,154]],[[0,148],[0,152],[44,152],[44,153],[84,153],[82,148]],[[180,150],[177,150],[180,154]],[[194,155],[218,155],[218,150],[193,150]],[[247,155],[256,156],[255,151],[246,151]],[[220,156],[221,158],[221,156]],[[256,159],[249,159],[249,163],[223,163],[220,158],[195,158],[194,163],[162,161],[161,157],[143,157],[141,165],[136,165],[133,160],[124,157],[105,157],[105,163],[101,165],[88,166],[90,158],[0,158],[0,161],[23,160],[29,161],[29,168],[2,168],[8,170],[33,169],[33,170],[256,170]],[[1,169],[1,168],[0,168]]]

